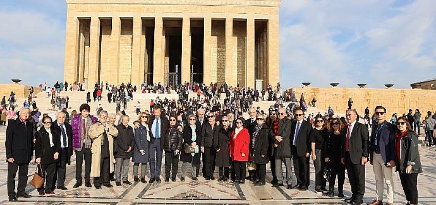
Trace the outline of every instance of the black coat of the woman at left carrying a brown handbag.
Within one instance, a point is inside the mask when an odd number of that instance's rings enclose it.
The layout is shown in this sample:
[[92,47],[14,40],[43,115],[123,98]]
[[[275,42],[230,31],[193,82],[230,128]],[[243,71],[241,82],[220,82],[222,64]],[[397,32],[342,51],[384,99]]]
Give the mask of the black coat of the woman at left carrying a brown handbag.
[[56,134],[54,128],[50,128],[53,140],[53,147],[50,147],[50,135],[47,130],[42,127],[35,133],[35,157],[41,157],[41,164],[48,165],[57,162],[59,158],[54,159],[54,153],[61,153],[61,140]]

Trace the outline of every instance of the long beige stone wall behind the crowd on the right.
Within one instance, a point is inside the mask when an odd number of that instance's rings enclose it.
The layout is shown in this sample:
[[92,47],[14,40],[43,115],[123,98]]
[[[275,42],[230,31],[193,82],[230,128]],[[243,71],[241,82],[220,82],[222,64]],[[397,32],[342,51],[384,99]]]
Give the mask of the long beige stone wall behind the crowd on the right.
[[295,96],[300,100],[304,92],[306,102],[313,97],[318,101],[318,107],[327,110],[331,106],[337,115],[344,115],[348,108],[348,99],[353,100],[353,107],[363,115],[369,107],[370,114],[375,106],[386,107],[388,117],[392,113],[402,115],[409,109],[419,109],[423,115],[427,111],[436,111],[436,91],[421,89],[372,89],[372,88],[292,88]]

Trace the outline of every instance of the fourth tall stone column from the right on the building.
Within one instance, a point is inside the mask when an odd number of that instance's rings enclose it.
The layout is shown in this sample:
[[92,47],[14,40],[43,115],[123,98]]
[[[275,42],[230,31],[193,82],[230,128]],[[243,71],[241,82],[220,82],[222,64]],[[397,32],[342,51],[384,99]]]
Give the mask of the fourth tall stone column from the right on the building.
[[[210,84],[210,66],[211,66],[211,54],[210,54],[210,42],[212,35],[212,19],[210,17],[204,18],[204,46],[203,46],[203,83],[209,86]],[[215,83],[215,82],[212,82]]]

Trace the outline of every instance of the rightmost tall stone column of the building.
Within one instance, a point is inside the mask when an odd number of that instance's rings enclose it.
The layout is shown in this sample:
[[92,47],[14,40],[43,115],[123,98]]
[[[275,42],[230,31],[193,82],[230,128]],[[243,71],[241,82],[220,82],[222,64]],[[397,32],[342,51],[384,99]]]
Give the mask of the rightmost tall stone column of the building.
[[268,19],[268,82],[272,86],[279,82],[279,18]]

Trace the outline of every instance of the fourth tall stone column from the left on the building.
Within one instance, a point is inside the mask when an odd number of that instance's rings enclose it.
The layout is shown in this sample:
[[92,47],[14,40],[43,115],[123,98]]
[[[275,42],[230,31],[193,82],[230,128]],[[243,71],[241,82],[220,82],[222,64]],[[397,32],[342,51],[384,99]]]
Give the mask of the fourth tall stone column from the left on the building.
[[144,83],[144,70],[141,69],[141,34],[142,34],[142,19],[141,17],[133,18],[133,40],[132,40],[132,85],[140,89]]

